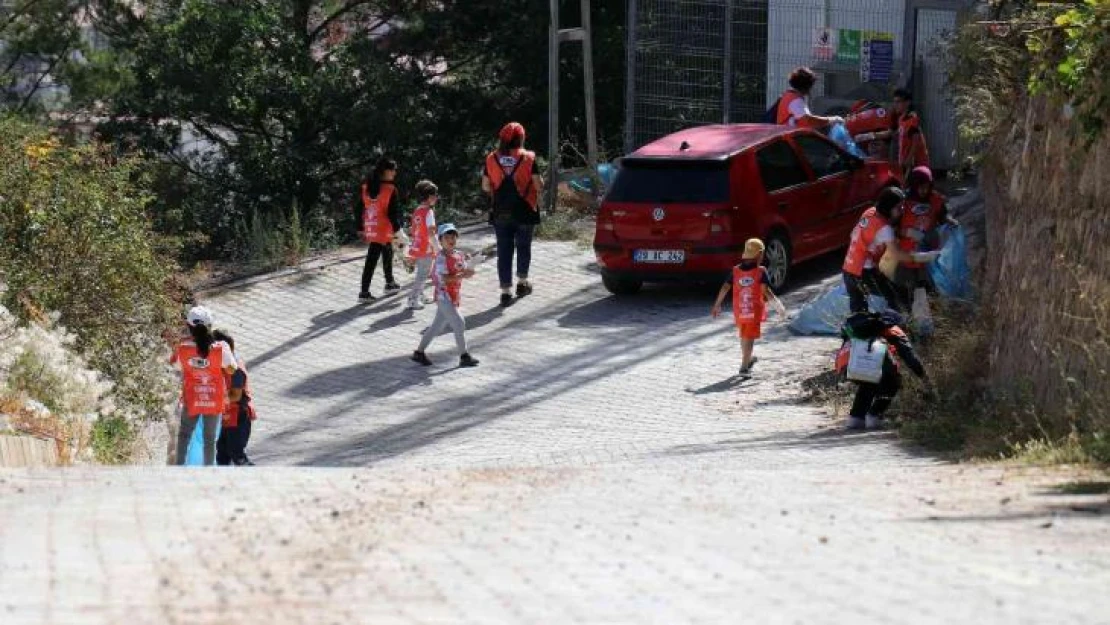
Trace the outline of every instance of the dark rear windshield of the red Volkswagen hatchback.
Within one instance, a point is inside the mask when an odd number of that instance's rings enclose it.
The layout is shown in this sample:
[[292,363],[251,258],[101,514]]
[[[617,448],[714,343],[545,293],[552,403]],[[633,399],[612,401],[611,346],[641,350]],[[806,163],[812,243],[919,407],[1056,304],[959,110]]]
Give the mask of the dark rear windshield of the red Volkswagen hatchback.
[[625,160],[605,199],[654,204],[728,202],[728,163]]

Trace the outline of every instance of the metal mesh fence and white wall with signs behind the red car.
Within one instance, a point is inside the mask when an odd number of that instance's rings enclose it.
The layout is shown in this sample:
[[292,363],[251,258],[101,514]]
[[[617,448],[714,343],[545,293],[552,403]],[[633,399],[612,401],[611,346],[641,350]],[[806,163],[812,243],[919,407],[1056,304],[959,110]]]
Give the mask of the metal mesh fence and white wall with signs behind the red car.
[[[947,149],[955,144],[955,119],[940,95],[944,68],[917,46],[922,32],[916,26],[921,13],[929,24],[924,30],[936,36],[934,24],[955,24],[958,4],[629,0],[625,149],[689,125],[758,121],[798,65],[818,74],[810,98],[817,113],[844,112],[859,99],[888,101],[894,87],[918,85],[927,131],[929,118],[944,125],[935,130]],[[941,8],[919,11],[919,6]],[[915,34],[916,41],[908,42]],[[912,57],[918,75],[906,62]]]

